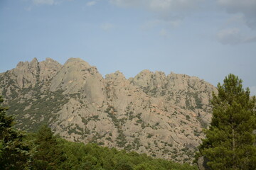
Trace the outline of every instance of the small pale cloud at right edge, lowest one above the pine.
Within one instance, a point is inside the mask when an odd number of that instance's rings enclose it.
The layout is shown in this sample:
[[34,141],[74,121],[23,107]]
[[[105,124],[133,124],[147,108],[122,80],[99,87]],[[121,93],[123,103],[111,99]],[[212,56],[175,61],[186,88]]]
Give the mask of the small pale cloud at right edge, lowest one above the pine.
[[240,33],[239,28],[220,30],[217,34],[218,41],[225,45],[237,45],[247,42],[256,42],[256,36],[246,36]]

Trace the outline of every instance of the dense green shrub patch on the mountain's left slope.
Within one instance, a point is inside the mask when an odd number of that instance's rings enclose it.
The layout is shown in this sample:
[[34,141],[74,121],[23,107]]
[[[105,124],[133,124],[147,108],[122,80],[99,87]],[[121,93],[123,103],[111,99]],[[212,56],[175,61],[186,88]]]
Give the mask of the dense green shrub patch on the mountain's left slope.
[[68,98],[61,90],[41,93],[36,87],[23,89],[21,93],[26,94],[28,91],[31,98],[23,97],[9,101],[11,107],[6,113],[15,115],[18,120],[16,128],[36,132],[41,125],[55,120],[53,113],[60,111],[60,106],[68,103]]

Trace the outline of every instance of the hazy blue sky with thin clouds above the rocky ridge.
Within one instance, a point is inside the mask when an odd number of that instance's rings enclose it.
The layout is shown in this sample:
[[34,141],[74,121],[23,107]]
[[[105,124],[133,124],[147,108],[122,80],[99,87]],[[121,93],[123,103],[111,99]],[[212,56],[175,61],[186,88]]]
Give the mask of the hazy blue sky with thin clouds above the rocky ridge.
[[256,95],[256,0],[0,0],[0,72],[80,57],[104,77],[143,69],[214,86],[232,73]]

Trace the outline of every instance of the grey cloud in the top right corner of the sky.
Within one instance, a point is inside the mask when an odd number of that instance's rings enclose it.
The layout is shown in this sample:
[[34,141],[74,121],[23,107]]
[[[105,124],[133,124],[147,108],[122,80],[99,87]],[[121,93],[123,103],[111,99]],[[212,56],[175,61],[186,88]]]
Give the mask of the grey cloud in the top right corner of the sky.
[[256,28],[256,1],[255,0],[217,0],[228,13],[242,13],[247,26]]

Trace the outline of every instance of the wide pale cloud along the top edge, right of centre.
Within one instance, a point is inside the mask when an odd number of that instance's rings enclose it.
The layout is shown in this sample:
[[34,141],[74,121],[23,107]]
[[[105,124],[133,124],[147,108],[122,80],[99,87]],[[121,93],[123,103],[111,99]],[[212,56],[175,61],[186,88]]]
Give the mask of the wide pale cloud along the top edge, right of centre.
[[[181,25],[183,18],[198,8],[205,0],[109,0],[111,4],[126,8],[139,8],[154,13],[153,18],[142,23],[142,30],[151,28],[175,28]],[[165,35],[161,30],[160,35]]]

